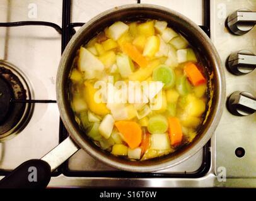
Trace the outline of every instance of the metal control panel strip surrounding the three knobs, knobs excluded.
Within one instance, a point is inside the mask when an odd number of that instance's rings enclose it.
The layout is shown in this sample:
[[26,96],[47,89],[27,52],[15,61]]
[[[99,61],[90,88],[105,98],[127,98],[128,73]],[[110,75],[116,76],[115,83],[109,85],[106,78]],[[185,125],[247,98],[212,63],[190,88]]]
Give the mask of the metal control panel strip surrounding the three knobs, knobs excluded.
[[[248,50],[256,55],[256,29],[245,35],[231,35],[224,26],[228,15],[237,9],[256,11],[256,1],[216,0],[212,18],[212,41],[216,46],[223,64],[231,53]],[[256,71],[247,75],[233,75],[225,70],[226,95],[235,91],[250,92],[256,97]],[[216,129],[215,172],[226,168],[227,177],[256,177],[256,114],[235,116],[225,107],[223,117]],[[245,155],[238,157],[236,149],[244,150]]]

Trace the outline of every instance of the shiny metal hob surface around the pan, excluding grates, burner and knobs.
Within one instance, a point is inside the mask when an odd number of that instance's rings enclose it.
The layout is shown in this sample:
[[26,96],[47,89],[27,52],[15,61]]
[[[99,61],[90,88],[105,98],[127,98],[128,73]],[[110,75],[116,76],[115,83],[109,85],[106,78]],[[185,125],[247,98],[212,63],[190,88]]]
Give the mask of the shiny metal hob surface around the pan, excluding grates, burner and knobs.
[[[7,1],[0,0],[0,21],[37,20],[50,21],[61,26],[62,1]],[[202,25],[203,0],[141,0],[166,6],[187,15],[195,23]],[[213,0],[211,2],[211,38],[223,61],[233,51],[241,48],[256,53],[255,28],[243,36],[233,36],[225,28],[224,22],[229,14],[238,8],[256,10],[256,1]],[[71,22],[85,22],[96,14],[122,4],[137,3],[135,0],[112,1],[72,1]],[[31,13],[37,8],[37,14]],[[34,18],[36,16],[36,18]],[[240,38],[239,38],[240,37]],[[61,58],[61,35],[53,28],[45,26],[22,26],[0,28],[0,58],[19,67],[32,84],[35,99],[55,99],[55,74]],[[227,95],[233,90],[249,91],[255,94],[255,72],[241,77],[231,75],[225,70]],[[241,119],[241,120],[240,120]],[[201,177],[136,177],[119,178],[100,175],[93,177],[76,175],[70,177],[66,172],[52,177],[49,187],[256,187],[255,149],[253,136],[255,114],[247,117],[232,116],[224,109],[221,123],[211,139],[210,168]],[[0,143],[0,169],[13,170],[30,158],[40,158],[59,143],[59,112],[57,104],[35,104],[32,119],[28,126],[15,138]],[[237,158],[235,149],[243,147],[245,156]],[[193,172],[203,161],[203,150],[181,165],[164,170],[165,173]],[[226,180],[218,179],[219,167],[226,170]],[[253,169],[254,168],[254,169]],[[80,150],[67,161],[68,171],[114,172],[112,168],[95,161]],[[1,178],[1,177],[0,177]]]

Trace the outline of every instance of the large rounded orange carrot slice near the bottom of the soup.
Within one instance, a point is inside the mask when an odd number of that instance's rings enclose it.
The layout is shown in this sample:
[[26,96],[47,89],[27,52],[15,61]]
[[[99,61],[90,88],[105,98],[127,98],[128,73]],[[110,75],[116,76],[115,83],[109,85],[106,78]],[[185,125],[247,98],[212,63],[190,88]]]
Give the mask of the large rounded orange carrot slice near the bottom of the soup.
[[117,121],[115,126],[131,149],[137,148],[141,144],[141,126],[135,121]]

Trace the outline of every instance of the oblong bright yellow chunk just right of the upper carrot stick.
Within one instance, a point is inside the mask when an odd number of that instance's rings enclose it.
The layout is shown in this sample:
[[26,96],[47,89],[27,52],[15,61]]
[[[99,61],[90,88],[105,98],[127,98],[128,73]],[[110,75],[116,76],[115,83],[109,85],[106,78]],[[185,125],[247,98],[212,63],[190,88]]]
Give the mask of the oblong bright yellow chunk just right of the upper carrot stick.
[[160,39],[158,36],[149,36],[143,51],[144,57],[153,57],[158,52],[160,46]]

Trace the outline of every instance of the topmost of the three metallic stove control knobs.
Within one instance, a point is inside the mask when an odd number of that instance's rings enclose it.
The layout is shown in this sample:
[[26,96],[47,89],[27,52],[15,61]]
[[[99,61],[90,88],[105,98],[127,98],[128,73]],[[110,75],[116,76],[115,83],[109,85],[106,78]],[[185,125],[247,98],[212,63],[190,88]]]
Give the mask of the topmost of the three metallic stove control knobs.
[[228,16],[227,24],[233,34],[243,35],[252,30],[256,24],[256,12],[239,9]]

